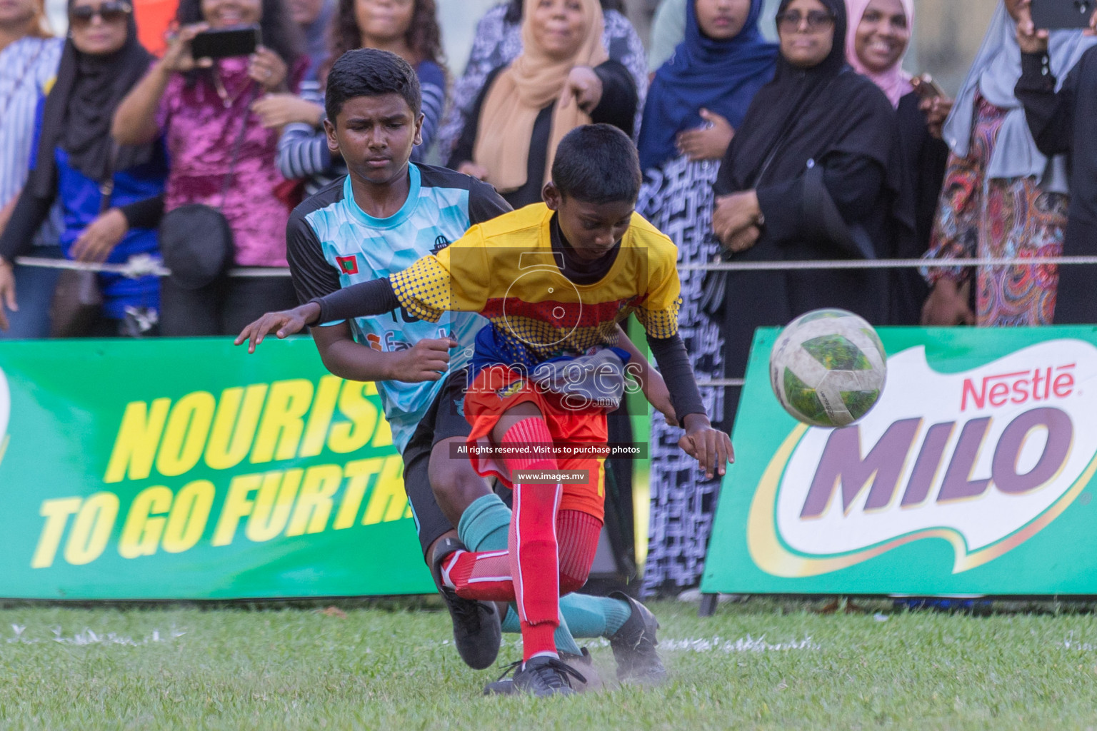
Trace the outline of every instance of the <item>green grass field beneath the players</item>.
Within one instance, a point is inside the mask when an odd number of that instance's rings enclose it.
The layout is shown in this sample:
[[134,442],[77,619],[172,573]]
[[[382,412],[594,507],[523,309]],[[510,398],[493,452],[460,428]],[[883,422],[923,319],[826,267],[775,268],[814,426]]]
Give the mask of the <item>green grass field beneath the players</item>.
[[[479,695],[432,601],[319,608],[0,609],[2,729],[1082,729],[1097,617],[654,604],[671,679]],[[1022,607],[1031,609],[1032,607]],[[885,614],[881,614],[880,612]],[[886,617],[886,619],[884,619]],[[518,656],[508,638],[500,660]],[[595,641],[604,675],[613,658]]]

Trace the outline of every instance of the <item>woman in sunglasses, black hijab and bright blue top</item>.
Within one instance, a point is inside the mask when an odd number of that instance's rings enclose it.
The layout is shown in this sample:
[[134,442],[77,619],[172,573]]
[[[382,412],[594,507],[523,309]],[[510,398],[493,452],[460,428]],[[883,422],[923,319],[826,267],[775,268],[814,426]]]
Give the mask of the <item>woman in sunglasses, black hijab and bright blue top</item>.
[[[26,251],[55,199],[64,214],[60,247],[78,261],[122,263],[157,252],[155,222],[167,163],[158,138],[115,146],[111,117],[148,69],[151,56],[137,41],[133,8],[120,0],[72,0],[69,37],[49,96],[39,107],[38,145],[26,186],[0,237],[0,256]],[[0,289],[12,283],[0,267]],[[142,335],[157,322],[156,277],[100,274],[102,309],[97,336]],[[55,328],[57,323],[54,323]]]

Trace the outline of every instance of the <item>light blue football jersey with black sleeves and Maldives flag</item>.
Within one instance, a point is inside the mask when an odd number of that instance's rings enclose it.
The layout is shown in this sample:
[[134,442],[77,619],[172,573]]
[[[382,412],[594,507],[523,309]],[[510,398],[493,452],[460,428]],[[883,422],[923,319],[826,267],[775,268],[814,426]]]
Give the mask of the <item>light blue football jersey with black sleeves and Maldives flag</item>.
[[[297,206],[290,218],[286,253],[301,301],[400,272],[418,259],[444,249],[471,226],[510,210],[495,189],[468,175],[414,163],[408,174],[407,201],[388,218],[374,218],[362,210],[347,176]],[[465,312],[448,312],[439,322],[427,322],[394,310],[381,317],[358,318],[351,329],[359,343],[384,352],[449,335],[460,343],[450,352],[453,373],[467,364],[476,333],[486,323],[478,315]],[[400,452],[443,381],[377,382],[393,443]]]

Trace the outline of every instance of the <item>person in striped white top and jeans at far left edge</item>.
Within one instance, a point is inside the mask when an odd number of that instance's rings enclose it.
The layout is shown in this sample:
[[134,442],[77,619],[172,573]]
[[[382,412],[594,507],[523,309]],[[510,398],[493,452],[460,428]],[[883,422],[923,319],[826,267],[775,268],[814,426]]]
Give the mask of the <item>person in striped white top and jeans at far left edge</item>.
[[[26,183],[35,116],[46,84],[57,73],[63,42],[50,37],[42,0],[0,3],[0,233]],[[57,231],[38,237],[36,256],[60,256]],[[45,338],[49,334],[49,297],[57,273],[0,263],[0,279],[11,281],[7,302],[0,302],[0,339]],[[22,302],[15,311],[15,289]],[[3,328],[8,330],[4,332]]]

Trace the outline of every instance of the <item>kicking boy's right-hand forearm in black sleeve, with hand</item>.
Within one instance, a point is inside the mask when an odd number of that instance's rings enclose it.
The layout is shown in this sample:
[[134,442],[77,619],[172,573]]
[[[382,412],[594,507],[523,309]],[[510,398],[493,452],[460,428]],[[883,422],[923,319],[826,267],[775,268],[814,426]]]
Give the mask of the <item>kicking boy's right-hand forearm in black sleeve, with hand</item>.
[[680,420],[686,435],[679,439],[678,445],[700,462],[706,479],[725,475],[727,465],[735,461],[732,439],[724,432],[713,429],[709,421],[681,335],[648,335],[647,344],[670,391],[675,413],[682,414]]

